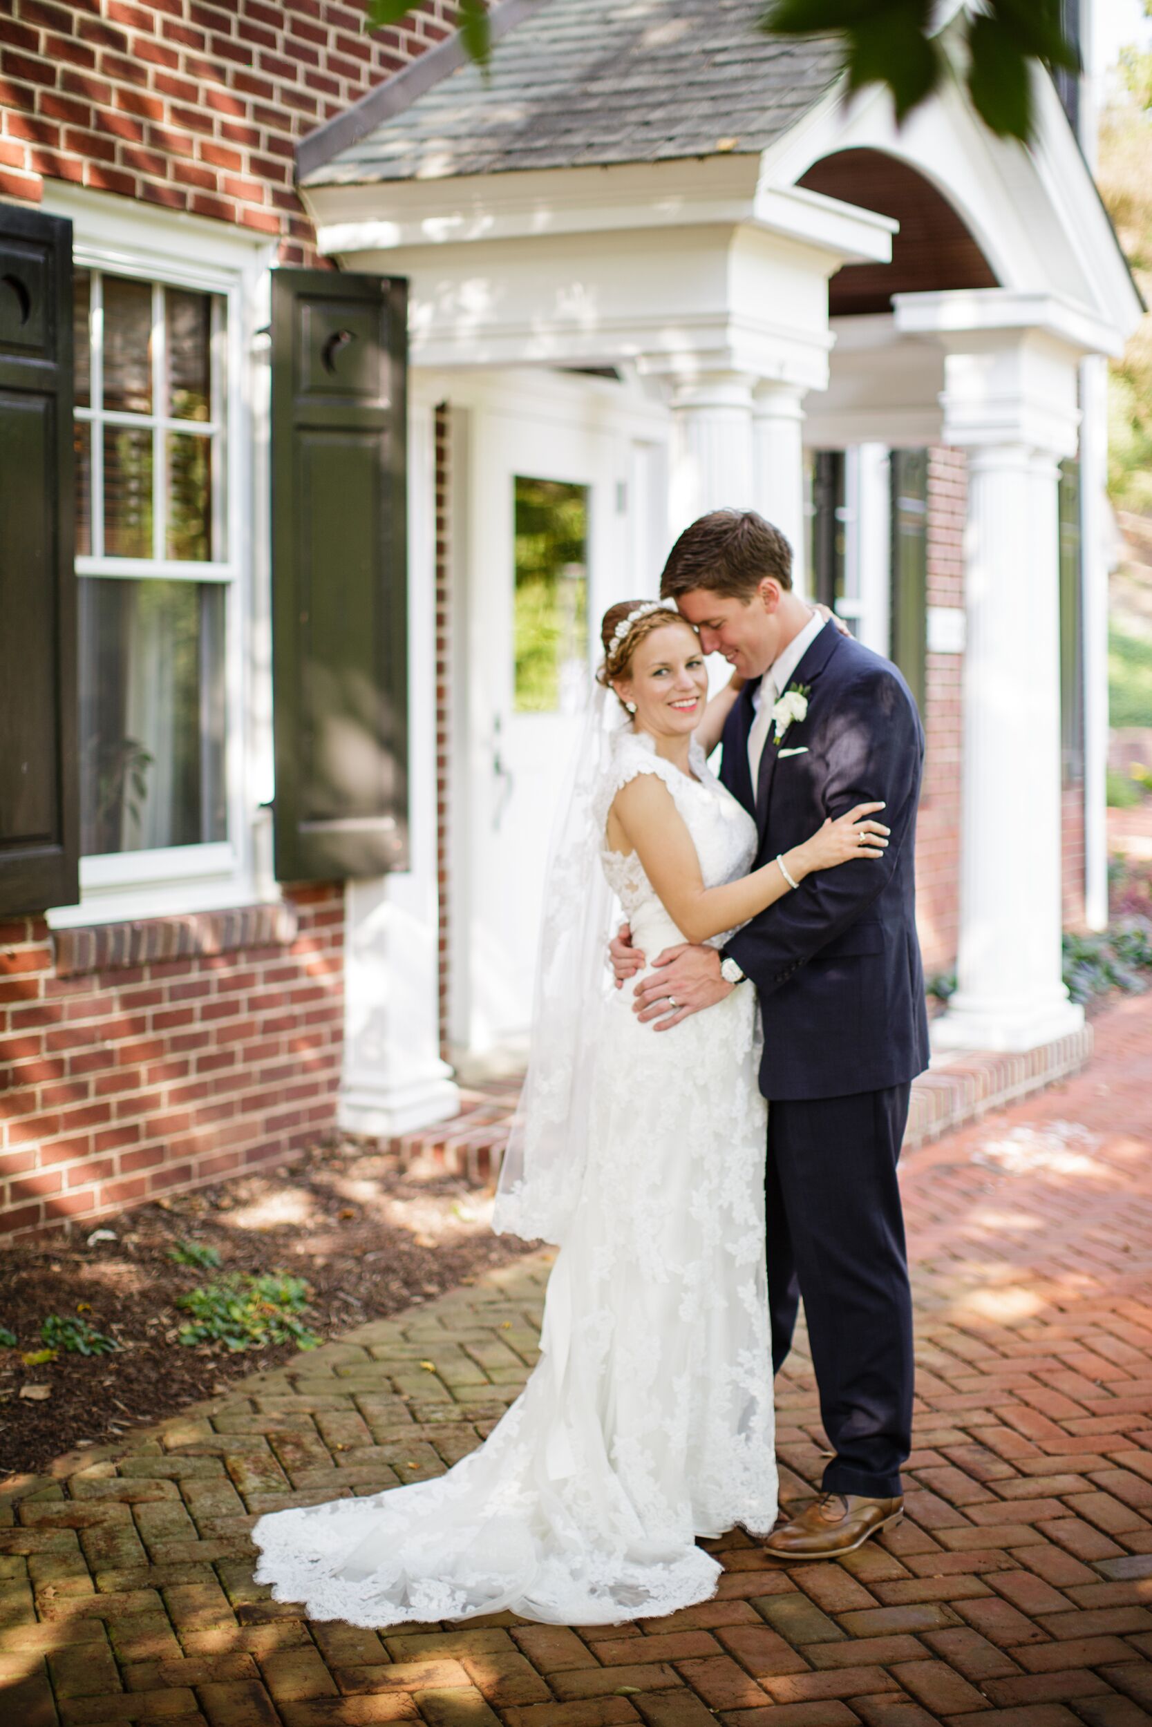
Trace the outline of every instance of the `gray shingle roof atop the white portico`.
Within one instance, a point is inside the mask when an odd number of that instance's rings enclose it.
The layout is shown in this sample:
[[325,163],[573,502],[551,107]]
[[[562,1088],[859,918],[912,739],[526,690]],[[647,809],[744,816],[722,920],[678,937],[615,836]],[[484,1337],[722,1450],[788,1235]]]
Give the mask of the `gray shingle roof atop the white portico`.
[[765,36],[762,12],[763,0],[546,0],[496,41],[487,79],[472,64],[447,71],[304,185],[760,152],[839,64],[827,38]]

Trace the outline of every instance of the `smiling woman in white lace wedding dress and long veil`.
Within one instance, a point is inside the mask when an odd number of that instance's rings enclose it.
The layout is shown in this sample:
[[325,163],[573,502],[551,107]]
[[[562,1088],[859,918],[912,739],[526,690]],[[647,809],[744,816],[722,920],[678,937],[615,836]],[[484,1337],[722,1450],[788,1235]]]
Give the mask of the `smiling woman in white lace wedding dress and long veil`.
[[775,1521],[755,991],[653,1036],[604,950],[613,900],[646,953],[722,945],[888,831],[858,805],[748,874],[755,822],[705,760],[739,682],[706,705],[694,629],[663,604],[611,606],[601,634],[494,1219],[560,1243],[541,1361],[447,1475],[259,1518],[257,1582],[316,1620],[672,1613],[715,1592],[698,1535]]

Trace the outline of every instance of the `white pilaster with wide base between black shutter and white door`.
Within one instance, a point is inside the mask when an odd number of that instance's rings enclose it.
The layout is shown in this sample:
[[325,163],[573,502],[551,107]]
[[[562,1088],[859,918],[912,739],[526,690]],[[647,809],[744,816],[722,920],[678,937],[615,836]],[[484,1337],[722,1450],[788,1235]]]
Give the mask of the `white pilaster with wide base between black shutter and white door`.
[[345,891],[339,1123],[387,1138],[459,1109],[439,1053],[435,879],[435,496],[432,404],[409,411],[409,869]]

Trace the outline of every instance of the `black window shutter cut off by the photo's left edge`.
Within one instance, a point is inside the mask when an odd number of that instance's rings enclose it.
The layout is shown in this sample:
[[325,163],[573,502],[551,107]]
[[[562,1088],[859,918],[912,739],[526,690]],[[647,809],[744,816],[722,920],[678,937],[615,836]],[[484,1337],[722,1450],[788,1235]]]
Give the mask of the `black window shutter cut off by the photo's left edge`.
[[79,898],[73,225],[0,204],[0,914]]

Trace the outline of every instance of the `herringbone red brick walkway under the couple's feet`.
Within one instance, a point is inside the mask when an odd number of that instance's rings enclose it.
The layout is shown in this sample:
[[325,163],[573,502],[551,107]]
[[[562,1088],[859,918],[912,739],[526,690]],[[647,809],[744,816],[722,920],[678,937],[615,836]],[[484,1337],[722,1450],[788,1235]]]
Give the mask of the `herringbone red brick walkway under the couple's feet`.
[[[0,1497],[3,1727],[1002,1727],[1152,1720],[1152,996],[1062,1088],[915,1152],[908,1515],[838,1565],[741,1534],[670,1620],[309,1625],[252,1584],[283,1504],[440,1471],[516,1394],[537,1256]],[[817,1478],[798,1361],[784,1492]],[[1149,1603],[1149,1604],[1145,1604]]]

